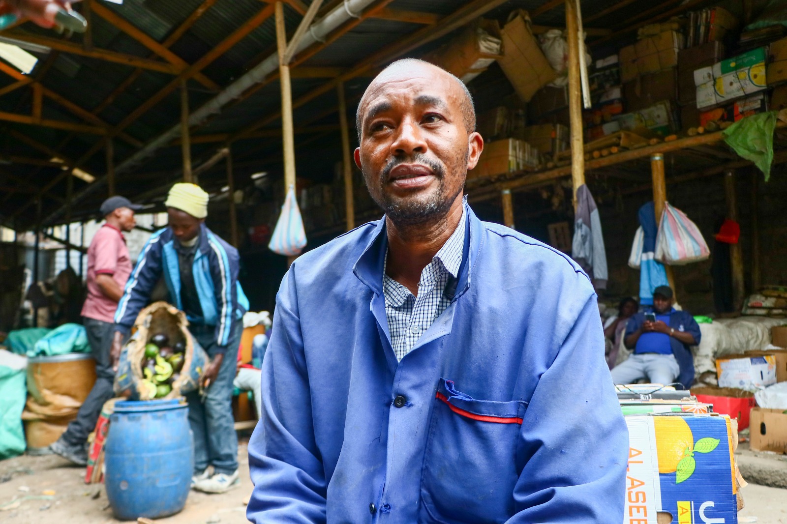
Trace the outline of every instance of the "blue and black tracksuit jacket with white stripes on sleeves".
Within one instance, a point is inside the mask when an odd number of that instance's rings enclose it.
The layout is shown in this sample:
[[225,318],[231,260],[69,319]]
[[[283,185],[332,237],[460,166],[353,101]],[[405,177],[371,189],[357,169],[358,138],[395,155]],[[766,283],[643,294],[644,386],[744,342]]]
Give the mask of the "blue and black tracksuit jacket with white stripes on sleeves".
[[[169,291],[170,303],[183,309],[180,303],[180,270],[175,237],[169,227],[151,235],[139,253],[134,271],[126,282],[123,297],[115,312],[116,330],[128,333],[150,299],[150,293],[161,276]],[[240,258],[238,250],[213,234],[203,223],[199,247],[194,254],[194,285],[202,308],[201,319],[191,323],[216,326],[216,344],[224,348],[230,340],[231,328],[249,308],[249,301],[238,283]]]

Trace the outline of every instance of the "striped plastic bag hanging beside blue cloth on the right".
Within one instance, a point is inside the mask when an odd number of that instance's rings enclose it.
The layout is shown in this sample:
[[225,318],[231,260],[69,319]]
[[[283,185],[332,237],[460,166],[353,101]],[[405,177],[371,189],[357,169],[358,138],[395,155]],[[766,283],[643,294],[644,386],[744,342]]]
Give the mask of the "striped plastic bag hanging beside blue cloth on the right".
[[664,203],[664,212],[656,234],[656,260],[681,266],[700,262],[711,256],[711,250],[696,224],[680,209]]

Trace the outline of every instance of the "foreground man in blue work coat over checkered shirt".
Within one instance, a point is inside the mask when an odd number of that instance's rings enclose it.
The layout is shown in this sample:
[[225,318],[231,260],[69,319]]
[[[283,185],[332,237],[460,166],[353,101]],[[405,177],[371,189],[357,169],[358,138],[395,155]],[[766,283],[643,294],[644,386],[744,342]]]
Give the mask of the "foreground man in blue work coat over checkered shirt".
[[476,218],[464,84],[398,61],[357,114],[385,217],[295,260],[249,442],[252,522],[623,522],[628,434],[587,275]]

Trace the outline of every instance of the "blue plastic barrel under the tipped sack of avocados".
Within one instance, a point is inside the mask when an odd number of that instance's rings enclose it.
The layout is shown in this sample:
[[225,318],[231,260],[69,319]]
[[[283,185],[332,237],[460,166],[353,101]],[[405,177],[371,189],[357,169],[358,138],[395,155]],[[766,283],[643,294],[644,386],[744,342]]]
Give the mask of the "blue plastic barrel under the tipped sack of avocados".
[[116,518],[161,518],[183,509],[194,437],[180,400],[115,404],[105,446],[106,496]]

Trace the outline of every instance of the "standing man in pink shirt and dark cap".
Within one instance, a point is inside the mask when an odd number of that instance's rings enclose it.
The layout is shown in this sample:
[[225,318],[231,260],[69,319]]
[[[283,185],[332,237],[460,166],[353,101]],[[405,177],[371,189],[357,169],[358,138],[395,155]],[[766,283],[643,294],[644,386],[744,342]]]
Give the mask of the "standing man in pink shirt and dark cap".
[[117,302],[123,296],[131,259],[123,231],[136,225],[134,212],[142,208],[125,197],[109,197],[101,206],[105,223],[87,249],[87,299],[82,308],[87,340],[96,363],[96,382],[87,395],[76,419],[53,445],[52,452],[84,466],[87,464],[86,442],[101,414],[104,403],[114,396],[115,373],[109,359]]

